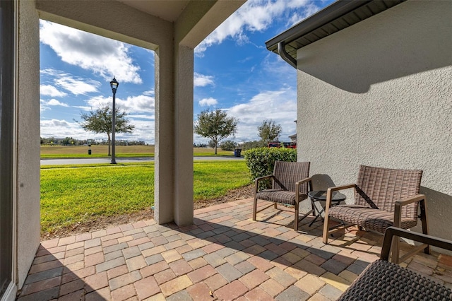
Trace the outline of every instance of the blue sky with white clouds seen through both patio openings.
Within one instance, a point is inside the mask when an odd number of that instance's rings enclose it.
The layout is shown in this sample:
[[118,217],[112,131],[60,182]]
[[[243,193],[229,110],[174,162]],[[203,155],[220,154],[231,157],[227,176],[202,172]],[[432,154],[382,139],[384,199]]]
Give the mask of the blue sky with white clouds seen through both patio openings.
[[[239,120],[237,143],[258,140],[257,127],[273,119],[290,141],[297,118],[296,71],[265,47],[266,40],[333,0],[247,1],[195,49],[194,121],[210,108]],[[116,102],[136,126],[117,139],[154,143],[154,54],[44,20],[40,22],[41,136],[106,139],[85,132],[81,112],[112,103],[109,81],[119,81]],[[194,134],[196,143],[208,139]]]

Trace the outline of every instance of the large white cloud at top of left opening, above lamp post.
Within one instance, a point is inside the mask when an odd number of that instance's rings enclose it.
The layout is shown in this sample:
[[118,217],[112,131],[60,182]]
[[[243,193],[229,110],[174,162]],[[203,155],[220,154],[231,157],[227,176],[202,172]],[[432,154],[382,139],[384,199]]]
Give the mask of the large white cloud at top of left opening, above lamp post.
[[49,45],[61,60],[99,74],[109,81],[142,83],[139,66],[129,57],[129,46],[57,23],[40,21],[40,42]]

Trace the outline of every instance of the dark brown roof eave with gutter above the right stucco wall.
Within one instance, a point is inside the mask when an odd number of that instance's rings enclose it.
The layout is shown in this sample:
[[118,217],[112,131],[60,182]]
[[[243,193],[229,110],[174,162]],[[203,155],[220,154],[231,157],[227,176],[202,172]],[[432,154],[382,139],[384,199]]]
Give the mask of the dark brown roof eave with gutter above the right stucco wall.
[[[297,66],[297,49],[337,33],[406,0],[338,0],[266,42],[271,52]],[[279,45],[279,49],[278,49]]]

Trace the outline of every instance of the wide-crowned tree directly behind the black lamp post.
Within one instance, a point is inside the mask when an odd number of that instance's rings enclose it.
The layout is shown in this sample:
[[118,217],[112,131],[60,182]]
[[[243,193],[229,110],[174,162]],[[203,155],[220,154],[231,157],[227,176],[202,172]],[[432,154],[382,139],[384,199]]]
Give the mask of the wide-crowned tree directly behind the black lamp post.
[[[115,133],[131,133],[135,126],[130,124],[129,119],[126,119],[127,112],[119,112],[119,108],[115,109],[116,122],[114,126]],[[104,105],[99,109],[89,113],[81,113],[80,117],[83,122],[78,122],[85,131],[93,131],[96,134],[107,134],[108,137],[108,155],[110,155],[110,134],[112,133],[112,109]]]

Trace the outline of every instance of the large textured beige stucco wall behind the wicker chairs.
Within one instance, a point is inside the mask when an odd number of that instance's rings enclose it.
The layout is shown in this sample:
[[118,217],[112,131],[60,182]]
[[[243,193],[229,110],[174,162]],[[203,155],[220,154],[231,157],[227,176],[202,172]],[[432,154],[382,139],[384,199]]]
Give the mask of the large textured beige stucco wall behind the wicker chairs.
[[451,16],[452,1],[407,1],[297,52],[298,160],[335,184],[359,164],[423,170],[429,228],[448,239]]

